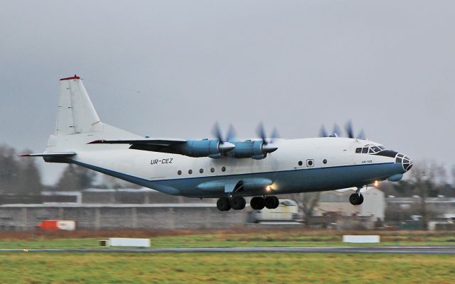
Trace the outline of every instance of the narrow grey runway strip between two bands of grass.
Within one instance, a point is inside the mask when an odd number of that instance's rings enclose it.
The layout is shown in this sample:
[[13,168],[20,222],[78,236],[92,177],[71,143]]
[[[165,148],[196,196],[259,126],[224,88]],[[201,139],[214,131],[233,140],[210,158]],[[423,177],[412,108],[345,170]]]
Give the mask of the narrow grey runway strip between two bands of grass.
[[455,246],[332,246],[171,249],[0,249],[0,253],[399,253],[455,254]]

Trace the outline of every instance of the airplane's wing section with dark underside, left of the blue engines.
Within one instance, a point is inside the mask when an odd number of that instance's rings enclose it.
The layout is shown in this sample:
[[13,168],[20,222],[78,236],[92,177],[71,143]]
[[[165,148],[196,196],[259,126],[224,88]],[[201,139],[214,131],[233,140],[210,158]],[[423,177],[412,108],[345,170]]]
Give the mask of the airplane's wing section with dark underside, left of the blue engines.
[[89,144],[129,144],[129,148],[135,150],[183,154],[178,146],[186,142],[186,139],[158,138],[141,140],[95,140]]

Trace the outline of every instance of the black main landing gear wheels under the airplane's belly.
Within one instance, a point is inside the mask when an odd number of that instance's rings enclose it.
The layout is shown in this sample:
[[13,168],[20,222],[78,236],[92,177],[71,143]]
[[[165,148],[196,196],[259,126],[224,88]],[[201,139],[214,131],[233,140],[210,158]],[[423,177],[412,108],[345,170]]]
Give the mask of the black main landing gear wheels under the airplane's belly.
[[[241,196],[235,197],[221,197],[216,202],[216,207],[220,211],[229,211],[231,208],[234,210],[242,210],[245,208],[246,202],[245,198]],[[250,202],[251,208],[255,210],[264,209],[275,209],[279,205],[279,199],[276,196],[267,196],[267,197],[253,197]]]

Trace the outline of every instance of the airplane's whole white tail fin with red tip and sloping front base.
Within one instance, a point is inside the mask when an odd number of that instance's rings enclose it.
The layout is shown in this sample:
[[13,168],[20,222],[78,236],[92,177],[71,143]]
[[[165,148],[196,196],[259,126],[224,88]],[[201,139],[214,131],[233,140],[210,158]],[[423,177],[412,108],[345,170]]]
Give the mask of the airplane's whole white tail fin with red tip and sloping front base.
[[101,122],[80,77],[60,79],[57,124],[45,153],[77,153],[93,149],[86,144],[97,139],[134,138],[139,136]]

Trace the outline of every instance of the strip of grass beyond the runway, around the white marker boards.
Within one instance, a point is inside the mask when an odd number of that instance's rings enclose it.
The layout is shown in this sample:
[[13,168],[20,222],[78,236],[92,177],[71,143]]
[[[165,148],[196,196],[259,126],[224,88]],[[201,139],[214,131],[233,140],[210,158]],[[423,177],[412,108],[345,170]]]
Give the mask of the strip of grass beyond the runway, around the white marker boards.
[[151,238],[153,248],[371,245],[343,243],[343,234],[380,234],[379,246],[455,245],[454,233],[427,231],[79,231],[1,234],[0,249],[93,249],[108,236]]

